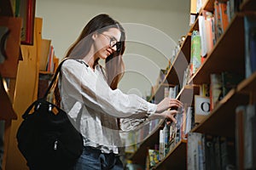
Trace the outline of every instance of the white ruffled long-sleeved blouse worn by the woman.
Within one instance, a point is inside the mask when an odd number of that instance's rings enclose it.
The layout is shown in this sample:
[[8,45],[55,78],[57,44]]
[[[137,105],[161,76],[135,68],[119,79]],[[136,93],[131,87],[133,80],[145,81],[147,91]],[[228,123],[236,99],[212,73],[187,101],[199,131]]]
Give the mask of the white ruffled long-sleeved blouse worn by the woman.
[[118,154],[121,146],[116,117],[143,118],[156,111],[156,105],[136,94],[112,90],[102,67],[93,71],[82,60],[67,59],[59,81],[61,108],[68,113],[84,138],[84,146],[103,153]]

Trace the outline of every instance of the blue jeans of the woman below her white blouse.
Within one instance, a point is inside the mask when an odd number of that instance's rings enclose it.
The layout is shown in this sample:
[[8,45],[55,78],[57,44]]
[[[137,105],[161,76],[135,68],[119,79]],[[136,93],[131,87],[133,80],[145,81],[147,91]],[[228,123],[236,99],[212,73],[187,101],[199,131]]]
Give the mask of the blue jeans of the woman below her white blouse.
[[90,146],[85,146],[73,170],[123,170],[119,156],[102,153]]

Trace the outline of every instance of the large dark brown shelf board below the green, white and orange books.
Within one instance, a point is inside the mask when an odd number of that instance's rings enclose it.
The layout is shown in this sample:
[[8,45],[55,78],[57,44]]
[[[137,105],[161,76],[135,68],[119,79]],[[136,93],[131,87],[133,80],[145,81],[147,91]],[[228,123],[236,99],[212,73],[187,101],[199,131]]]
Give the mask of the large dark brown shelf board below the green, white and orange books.
[[222,71],[244,75],[244,46],[241,44],[244,44],[243,15],[236,14],[230,26],[219,37],[212,52],[207,55],[207,59],[189,82],[210,83],[210,74]]

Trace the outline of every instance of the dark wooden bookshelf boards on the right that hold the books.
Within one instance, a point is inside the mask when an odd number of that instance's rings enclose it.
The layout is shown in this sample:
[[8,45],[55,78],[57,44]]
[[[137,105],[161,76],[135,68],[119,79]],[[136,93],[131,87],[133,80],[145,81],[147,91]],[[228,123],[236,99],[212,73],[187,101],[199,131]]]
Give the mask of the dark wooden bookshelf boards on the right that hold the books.
[[[213,11],[214,0],[208,0],[204,4],[202,10]],[[232,73],[245,75],[245,40],[244,40],[244,17],[248,14],[255,15],[256,1],[246,0],[241,3],[239,12],[231,19],[229,26],[218,38],[218,41],[212,48],[212,51],[207,54],[207,58],[195,74],[189,79],[189,85],[182,88],[177,94],[177,99],[187,103],[193,103],[193,96],[199,94],[199,85],[202,83],[210,84],[210,75],[212,73],[221,73],[229,71]],[[200,12],[201,14],[202,12]],[[190,47],[191,47],[191,32],[198,30],[198,20],[190,27],[188,35],[183,42],[180,52],[177,54],[174,63],[170,70],[167,71],[166,78],[163,83],[168,84],[181,84],[180,80],[183,71],[190,60]],[[185,66],[184,63],[187,63]],[[232,88],[228,94],[221,99],[211,111],[209,116],[206,116],[202,122],[197,124],[190,131],[191,133],[206,133],[217,136],[228,137],[236,139],[236,107],[238,105],[255,104],[256,102],[256,72],[250,77],[245,78],[239,82],[236,88]],[[162,94],[163,87],[160,86],[155,94]],[[192,100],[192,102],[191,102]],[[155,133],[156,134],[156,133]],[[156,138],[156,139],[154,139]],[[159,142],[158,134],[148,140]],[[144,157],[145,160],[147,153],[147,144],[154,144],[151,141],[146,141],[141,144],[143,152],[138,149],[134,155]],[[144,145],[145,144],[145,145]],[[186,169],[187,168],[187,141],[181,140],[158,165],[152,169]],[[133,161],[136,161],[134,159]],[[145,161],[142,161],[143,165]]]

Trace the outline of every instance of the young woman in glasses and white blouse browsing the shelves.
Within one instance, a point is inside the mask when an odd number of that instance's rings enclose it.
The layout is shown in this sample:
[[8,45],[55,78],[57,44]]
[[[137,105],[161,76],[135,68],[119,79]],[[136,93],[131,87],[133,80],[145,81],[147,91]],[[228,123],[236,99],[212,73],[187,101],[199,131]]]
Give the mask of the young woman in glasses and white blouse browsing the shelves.
[[[124,169],[119,160],[119,118],[160,114],[175,121],[177,111],[166,110],[182,105],[177,99],[166,98],[155,105],[137,95],[123,94],[117,87],[125,68],[124,52],[125,31],[108,14],[90,20],[67,51],[59,78],[61,108],[84,138],[75,170]],[[99,59],[105,59],[104,67]]]

